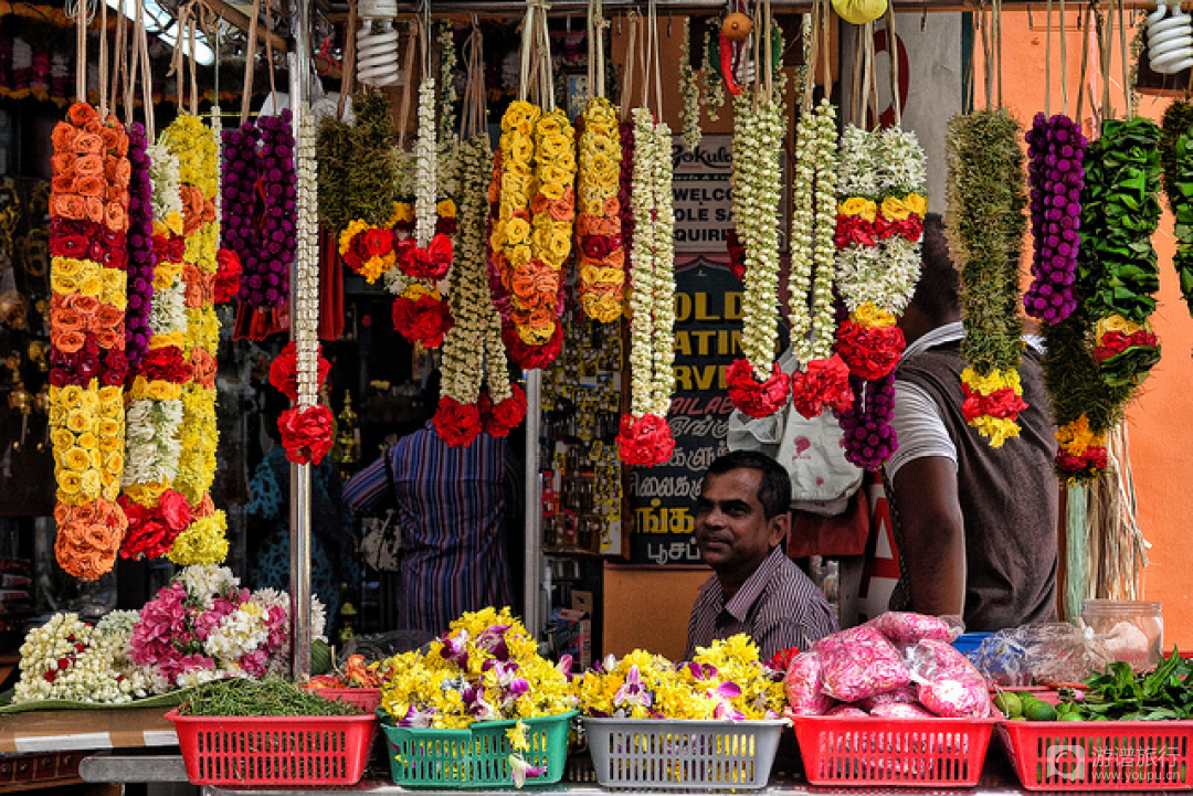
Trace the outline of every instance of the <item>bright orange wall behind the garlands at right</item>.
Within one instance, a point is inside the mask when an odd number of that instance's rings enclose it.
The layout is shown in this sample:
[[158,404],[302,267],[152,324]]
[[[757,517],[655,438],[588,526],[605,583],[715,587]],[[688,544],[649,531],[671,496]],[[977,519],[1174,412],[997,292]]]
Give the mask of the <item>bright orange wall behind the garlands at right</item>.
[[[1076,10],[1070,7],[1068,20],[1073,27]],[[1003,100],[1024,124],[1031,124],[1037,111],[1044,110],[1046,80],[1046,37],[1044,14],[1037,7],[1033,19],[1026,12],[1003,13]],[[1036,30],[1032,30],[1034,21]],[[1129,38],[1131,31],[1127,31]],[[1069,114],[1076,112],[1077,80],[1081,67],[1080,31],[1068,33]],[[1118,35],[1115,33],[1115,39]],[[1092,62],[1096,58],[1092,57]],[[1111,104],[1118,117],[1123,116],[1121,60],[1115,50],[1111,71]],[[1059,35],[1052,41],[1053,74],[1051,75],[1051,112],[1061,111]],[[1095,79],[1094,94],[1099,102],[1102,83]],[[978,83],[981,86],[981,82]],[[1086,88],[1083,122],[1090,130],[1090,89]],[[978,98],[981,101],[982,93]],[[1172,100],[1143,97],[1141,116],[1160,120]],[[1144,384],[1142,394],[1127,410],[1131,467],[1135,477],[1138,523],[1144,537],[1151,542],[1148,552],[1150,565],[1144,572],[1144,596],[1160,601],[1164,610],[1164,643],[1193,647],[1193,601],[1189,599],[1187,571],[1189,556],[1185,539],[1186,517],[1193,514],[1193,490],[1186,485],[1186,473],[1193,472],[1193,425],[1185,418],[1193,416],[1193,321],[1180,296],[1173,270],[1173,219],[1166,211],[1160,230],[1152,238],[1160,255],[1160,303],[1152,318],[1163,347],[1163,359]],[[1182,574],[1185,572],[1185,574]]]

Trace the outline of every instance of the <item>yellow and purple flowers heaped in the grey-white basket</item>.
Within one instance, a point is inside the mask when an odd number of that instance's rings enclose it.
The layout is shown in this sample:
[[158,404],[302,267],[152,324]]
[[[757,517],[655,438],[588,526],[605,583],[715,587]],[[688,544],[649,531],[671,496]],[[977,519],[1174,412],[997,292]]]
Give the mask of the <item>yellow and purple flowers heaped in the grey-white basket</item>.
[[635,649],[612,655],[576,683],[585,715],[613,719],[778,719],[783,672],[767,667],[744,634],[697,647],[688,663]]

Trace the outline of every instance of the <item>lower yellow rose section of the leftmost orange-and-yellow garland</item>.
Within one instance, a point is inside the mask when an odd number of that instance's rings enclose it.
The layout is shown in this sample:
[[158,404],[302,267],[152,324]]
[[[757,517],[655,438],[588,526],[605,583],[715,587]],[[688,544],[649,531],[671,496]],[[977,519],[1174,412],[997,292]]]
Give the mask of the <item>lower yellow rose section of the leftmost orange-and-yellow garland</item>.
[[50,387],[50,443],[57,499],[84,505],[115,500],[124,472],[124,402],[119,387]]

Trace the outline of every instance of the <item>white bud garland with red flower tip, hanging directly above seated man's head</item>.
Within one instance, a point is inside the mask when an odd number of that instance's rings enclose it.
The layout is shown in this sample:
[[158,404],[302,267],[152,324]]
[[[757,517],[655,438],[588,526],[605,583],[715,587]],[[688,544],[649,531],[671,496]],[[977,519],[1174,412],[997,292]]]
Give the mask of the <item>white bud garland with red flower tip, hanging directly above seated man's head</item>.
[[727,380],[734,405],[750,417],[787,403],[791,378],[775,361],[779,328],[779,153],[786,129],[783,93],[743,92],[734,100],[734,225],[744,250],[742,354]]

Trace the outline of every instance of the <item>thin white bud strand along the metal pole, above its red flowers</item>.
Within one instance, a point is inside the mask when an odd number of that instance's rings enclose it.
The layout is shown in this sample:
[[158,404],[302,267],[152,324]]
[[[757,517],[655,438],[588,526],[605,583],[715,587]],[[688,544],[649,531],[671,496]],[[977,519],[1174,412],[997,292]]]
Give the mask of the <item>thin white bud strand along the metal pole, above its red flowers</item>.
[[293,338],[298,399],[307,410],[319,403],[319,185],[315,117],[305,102],[295,136],[296,216]]

